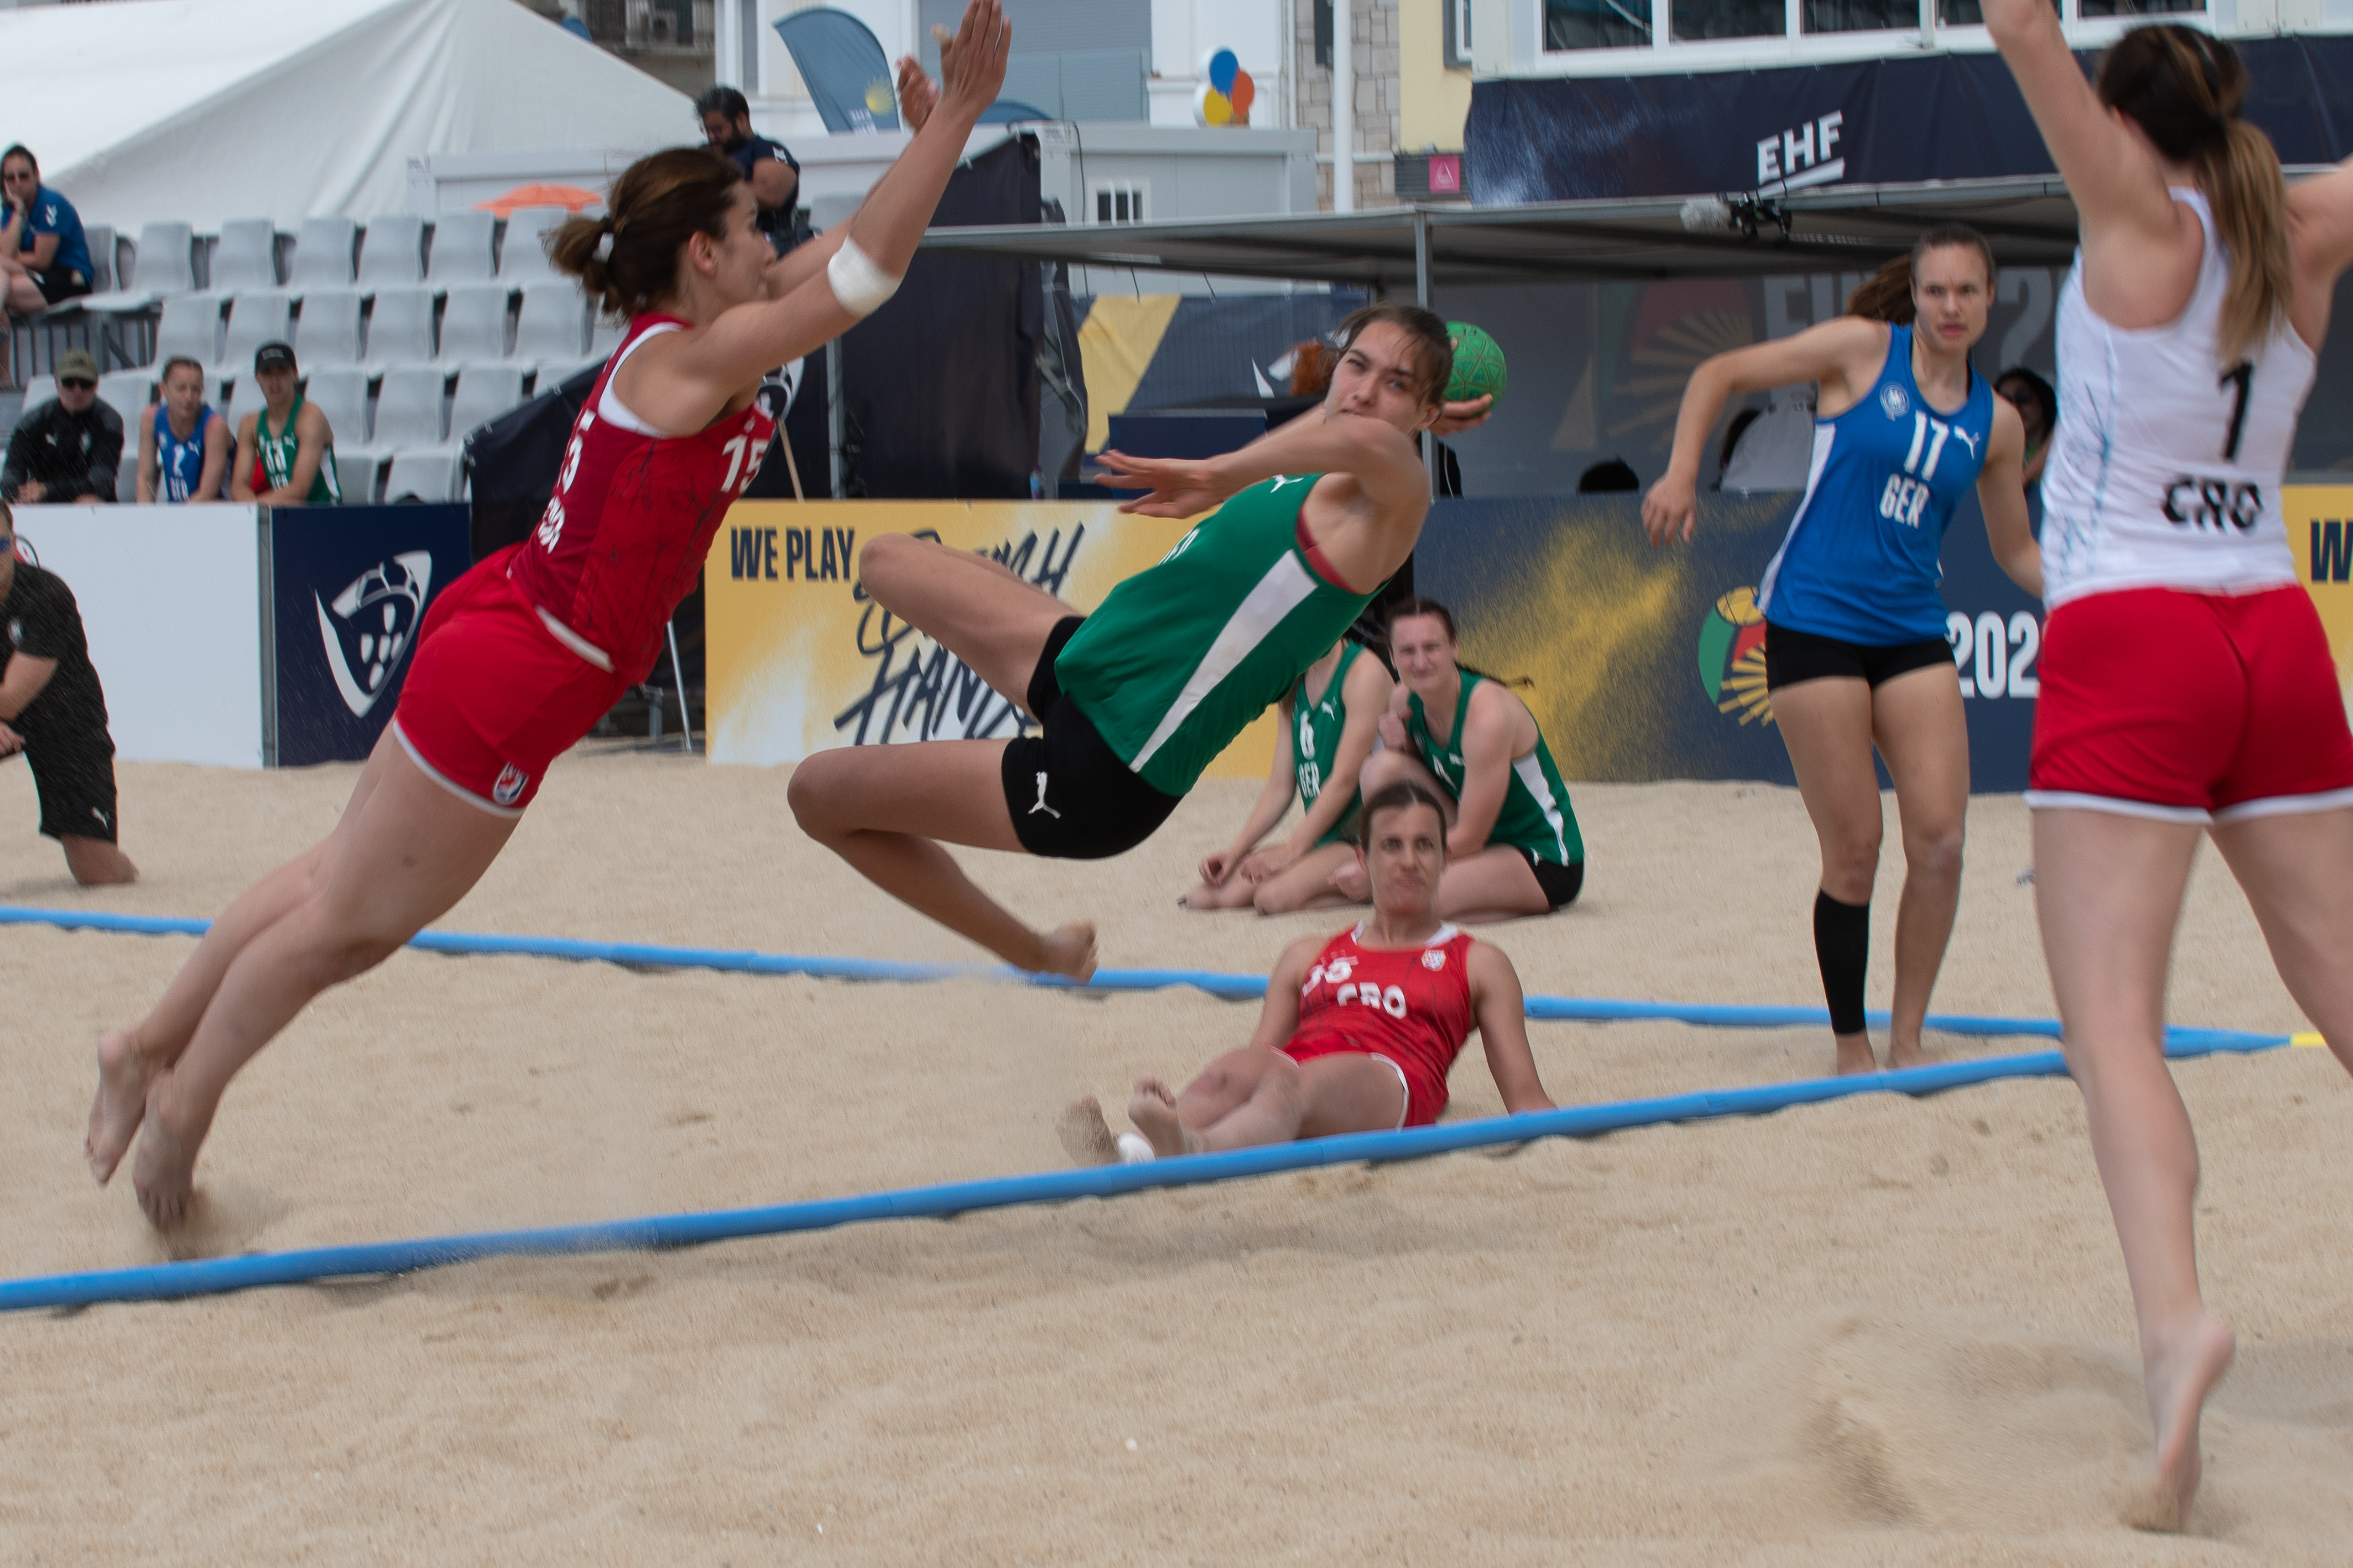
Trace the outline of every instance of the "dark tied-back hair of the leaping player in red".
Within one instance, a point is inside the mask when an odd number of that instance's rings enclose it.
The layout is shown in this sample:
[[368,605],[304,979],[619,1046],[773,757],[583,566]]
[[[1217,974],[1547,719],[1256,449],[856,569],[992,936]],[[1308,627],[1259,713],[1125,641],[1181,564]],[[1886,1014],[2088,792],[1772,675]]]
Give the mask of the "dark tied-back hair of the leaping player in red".
[[628,165],[602,219],[574,216],[548,233],[548,261],[581,280],[605,315],[633,315],[678,289],[678,252],[694,235],[727,237],[744,172],[725,153],[668,148]]

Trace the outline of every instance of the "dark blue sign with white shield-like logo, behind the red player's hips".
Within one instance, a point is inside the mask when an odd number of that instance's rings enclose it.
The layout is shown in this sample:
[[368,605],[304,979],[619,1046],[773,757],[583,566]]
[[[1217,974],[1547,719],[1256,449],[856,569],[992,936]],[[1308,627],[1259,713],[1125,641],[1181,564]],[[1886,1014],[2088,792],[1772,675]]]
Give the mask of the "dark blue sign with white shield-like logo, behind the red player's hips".
[[271,510],[275,766],[365,762],[433,595],[473,564],[464,505]]

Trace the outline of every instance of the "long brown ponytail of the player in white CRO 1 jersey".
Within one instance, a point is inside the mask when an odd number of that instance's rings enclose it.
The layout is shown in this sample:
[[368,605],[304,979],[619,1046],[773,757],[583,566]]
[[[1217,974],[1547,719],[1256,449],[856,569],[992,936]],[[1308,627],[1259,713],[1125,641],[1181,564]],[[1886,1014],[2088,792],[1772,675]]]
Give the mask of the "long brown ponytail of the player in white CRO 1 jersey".
[[2172,162],[2198,172],[2231,252],[2221,301],[2224,364],[2278,327],[2294,294],[2287,261],[2287,181],[2271,139],[2238,118],[2247,66],[2198,28],[2158,24],[2115,40],[2099,61],[2099,101],[2129,118]]

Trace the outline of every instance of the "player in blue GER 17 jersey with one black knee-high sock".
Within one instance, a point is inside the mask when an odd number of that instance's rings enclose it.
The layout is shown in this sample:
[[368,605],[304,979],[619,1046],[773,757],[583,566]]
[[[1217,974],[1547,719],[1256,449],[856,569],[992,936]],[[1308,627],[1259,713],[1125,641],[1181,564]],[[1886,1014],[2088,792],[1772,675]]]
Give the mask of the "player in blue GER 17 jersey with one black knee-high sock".
[[1993,557],[2042,597],[2026,527],[2026,428],[1969,367],[1993,303],[1993,249],[1958,223],[1920,235],[1854,292],[1847,315],[1704,360],[1682,393],[1675,454],[1642,498],[1652,545],[1692,538],[1699,456],[1727,395],[1819,383],[1814,461],[1788,538],[1765,569],[1765,684],[1798,792],[1821,839],[1814,957],[1838,1072],[1873,1072],[1864,1030],[1878,771],[1904,825],[1897,985],[1887,1056],[1918,1067],[1920,1023],[1960,905],[1969,719],[1937,592],[1946,524],[1977,487]]

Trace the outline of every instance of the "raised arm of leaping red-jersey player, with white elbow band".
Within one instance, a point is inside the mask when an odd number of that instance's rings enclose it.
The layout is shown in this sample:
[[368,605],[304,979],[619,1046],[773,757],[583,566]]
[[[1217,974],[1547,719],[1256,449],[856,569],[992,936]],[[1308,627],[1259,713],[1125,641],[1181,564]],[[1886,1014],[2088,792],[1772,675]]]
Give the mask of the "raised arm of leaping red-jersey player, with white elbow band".
[[[831,252],[786,270],[784,277],[800,275],[800,282],[781,299],[774,299],[772,280],[767,284],[772,299],[734,306],[701,331],[649,343],[633,355],[621,371],[621,397],[628,407],[659,430],[701,430],[718,418],[729,397],[762,374],[828,343],[880,306],[880,299],[866,303],[864,294],[852,299],[861,306],[856,310],[842,303],[833,263],[847,256],[838,252],[847,242],[864,256],[861,268],[842,268],[845,277],[854,273],[861,280],[859,289],[896,287],[915,259],[915,244],[948,188],[948,176],[965,155],[972,127],[1005,85],[1009,47],[1012,24],[1005,21],[998,0],[969,0],[962,28],[939,45],[939,106],[866,193],[856,214],[840,226],[842,240],[835,240]],[[776,266],[795,263],[807,249],[812,247],[795,249]],[[819,261],[826,263],[824,277],[814,275]]]

